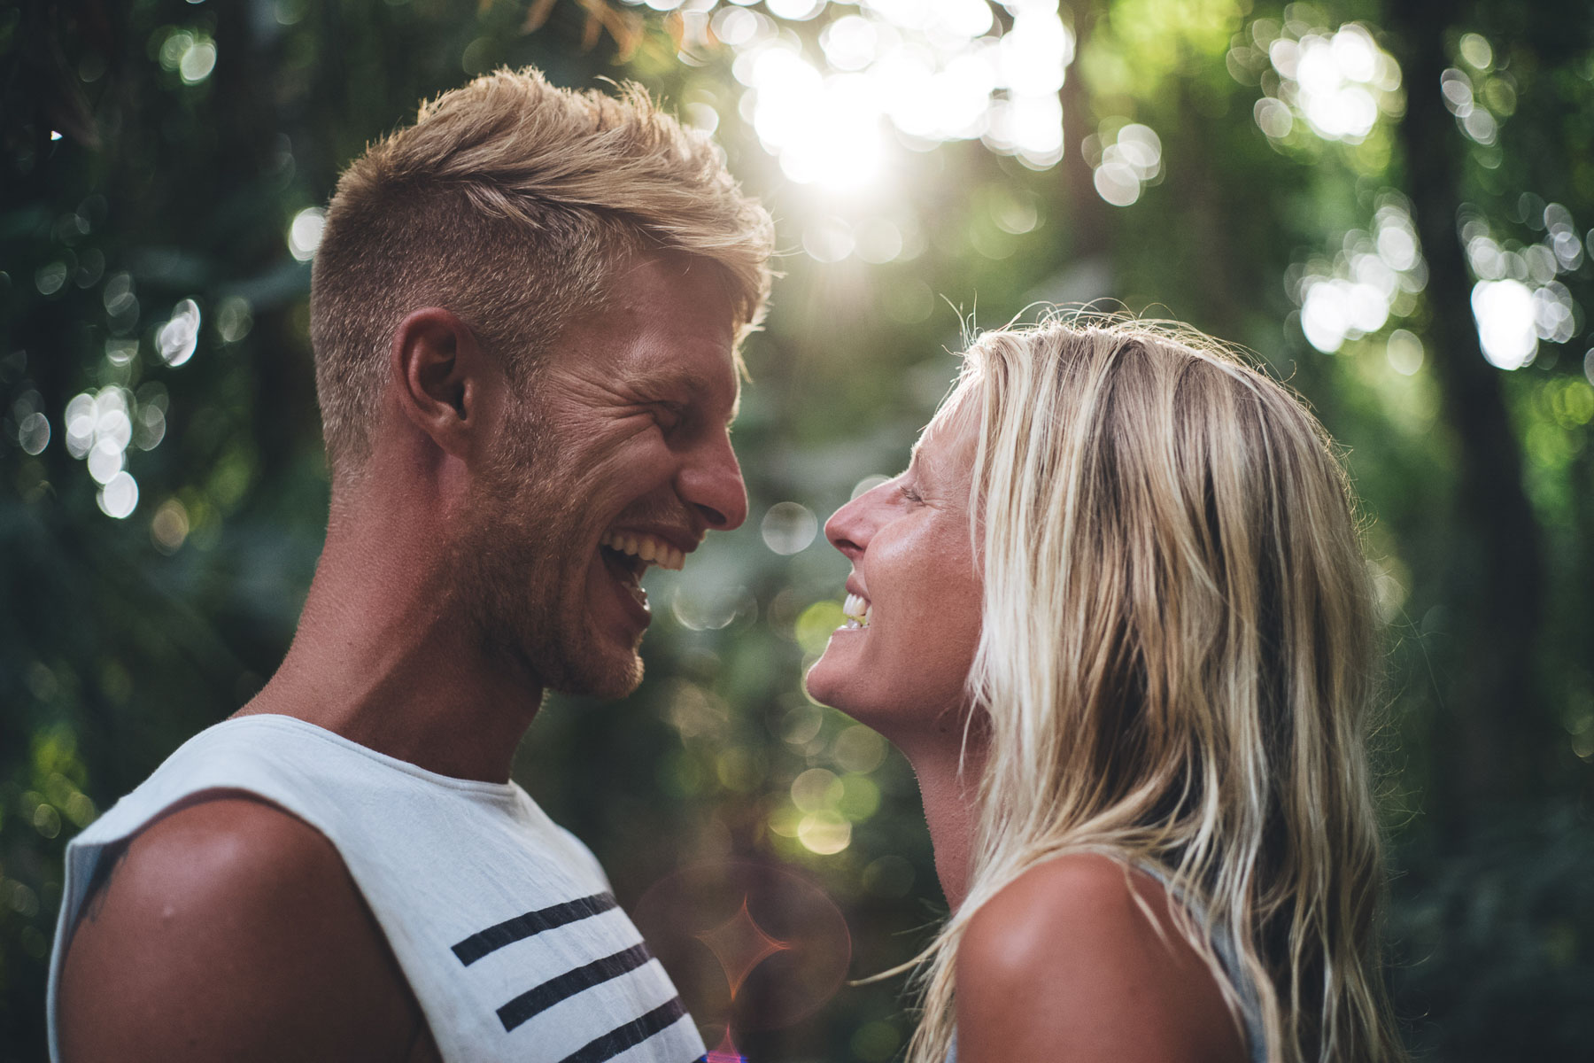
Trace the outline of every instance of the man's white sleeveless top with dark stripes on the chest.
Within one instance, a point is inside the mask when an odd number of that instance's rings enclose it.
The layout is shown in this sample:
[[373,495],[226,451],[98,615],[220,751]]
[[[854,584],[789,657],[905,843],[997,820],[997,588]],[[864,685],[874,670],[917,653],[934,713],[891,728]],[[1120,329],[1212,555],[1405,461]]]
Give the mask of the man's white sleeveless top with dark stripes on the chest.
[[[596,857],[513,783],[454,779],[289,716],[194,735],[67,846],[49,964],[96,864],[201,790],[247,790],[332,841],[450,1063],[690,1063],[703,1039]],[[110,849],[110,853],[107,853]]]

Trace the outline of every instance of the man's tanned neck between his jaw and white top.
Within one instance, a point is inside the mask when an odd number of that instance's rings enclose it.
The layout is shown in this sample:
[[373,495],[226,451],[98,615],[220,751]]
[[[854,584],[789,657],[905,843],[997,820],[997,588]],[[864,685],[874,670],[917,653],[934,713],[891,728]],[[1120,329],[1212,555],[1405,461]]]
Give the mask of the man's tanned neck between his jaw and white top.
[[239,714],[293,716],[429,771],[504,783],[542,687],[488,655],[435,529],[373,512],[333,520],[293,645]]

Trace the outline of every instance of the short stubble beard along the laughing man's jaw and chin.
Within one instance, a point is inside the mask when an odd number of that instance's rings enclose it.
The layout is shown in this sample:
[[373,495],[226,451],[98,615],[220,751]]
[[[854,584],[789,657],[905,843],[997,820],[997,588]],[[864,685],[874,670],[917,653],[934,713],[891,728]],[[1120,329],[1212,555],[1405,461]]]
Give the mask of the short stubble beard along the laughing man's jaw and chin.
[[571,489],[580,478],[547,437],[532,405],[518,403],[473,484],[454,593],[483,653],[528,687],[622,698],[642,681],[642,663],[634,650],[607,650],[591,630],[585,572],[601,559]]

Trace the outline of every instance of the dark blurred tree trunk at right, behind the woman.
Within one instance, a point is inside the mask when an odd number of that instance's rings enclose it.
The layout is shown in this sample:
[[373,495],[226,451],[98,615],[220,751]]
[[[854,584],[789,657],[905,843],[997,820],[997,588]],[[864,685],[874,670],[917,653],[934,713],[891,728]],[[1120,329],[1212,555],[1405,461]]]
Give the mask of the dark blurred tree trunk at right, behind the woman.
[[[1439,96],[1449,65],[1446,0],[1395,0],[1406,116],[1400,142],[1406,191],[1428,261],[1428,347],[1443,416],[1457,445],[1457,496],[1443,602],[1454,634],[1441,652],[1439,719],[1433,735],[1433,808],[1446,827],[1482,805],[1527,789],[1530,741],[1541,725],[1533,652],[1541,622],[1538,524],[1522,491],[1522,451],[1471,314],[1471,277],[1455,231],[1466,143]],[[1444,682],[1449,679],[1449,682]]]

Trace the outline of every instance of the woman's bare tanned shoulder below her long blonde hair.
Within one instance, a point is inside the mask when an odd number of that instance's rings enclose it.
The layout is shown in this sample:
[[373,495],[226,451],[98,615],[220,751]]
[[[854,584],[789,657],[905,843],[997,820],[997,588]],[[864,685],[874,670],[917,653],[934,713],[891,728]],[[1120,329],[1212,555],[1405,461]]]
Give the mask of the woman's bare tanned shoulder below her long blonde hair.
[[1106,856],[1028,869],[958,947],[958,1057],[1243,1060],[1218,982],[1162,885]]

